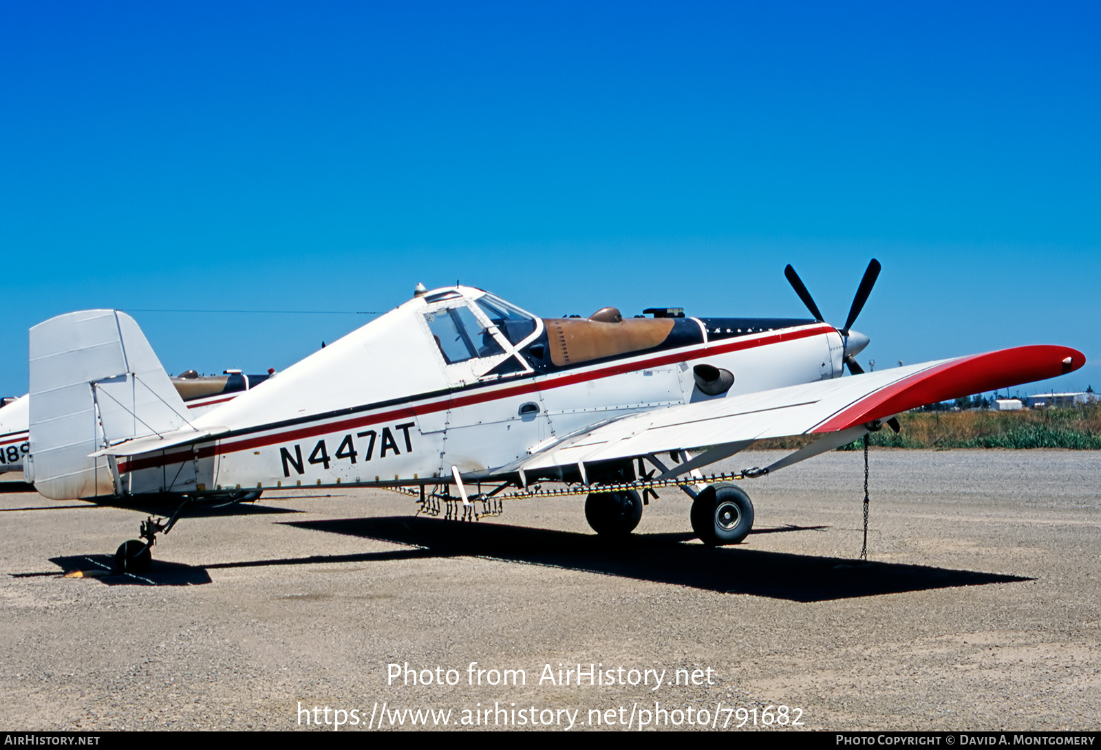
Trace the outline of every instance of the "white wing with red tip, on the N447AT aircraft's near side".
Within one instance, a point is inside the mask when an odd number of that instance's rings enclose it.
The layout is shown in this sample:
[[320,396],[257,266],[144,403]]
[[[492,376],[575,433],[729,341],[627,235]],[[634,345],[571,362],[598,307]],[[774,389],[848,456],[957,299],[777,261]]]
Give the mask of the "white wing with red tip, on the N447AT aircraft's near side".
[[1018,346],[674,406],[568,435],[502,467],[501,473],[708,448],[666,472],[664,478],[730,456],[756,440],[819,435],[816,442],[766,467],[775,471],[852,442],[876,427],[875,422],[908,409],[1055,377],[1084,363],[1081,352],[1066,346]]

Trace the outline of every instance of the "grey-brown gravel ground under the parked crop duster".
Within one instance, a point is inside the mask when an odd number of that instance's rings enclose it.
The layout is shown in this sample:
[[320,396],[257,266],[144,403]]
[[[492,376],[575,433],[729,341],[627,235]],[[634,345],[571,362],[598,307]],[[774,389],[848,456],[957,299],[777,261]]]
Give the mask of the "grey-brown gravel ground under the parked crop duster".
[[868,565],[860,453],[743,483],[754,533],[719,550],[675,490],[618,544],[579,497],[457,523],[384,492],[265,494],[181,521],[145,580],[96,575],[140,514],[4,494],[0,721],[366,729],[385,704],[383,728],[1095,730],[1099,477],[1101,452],[875,451]]

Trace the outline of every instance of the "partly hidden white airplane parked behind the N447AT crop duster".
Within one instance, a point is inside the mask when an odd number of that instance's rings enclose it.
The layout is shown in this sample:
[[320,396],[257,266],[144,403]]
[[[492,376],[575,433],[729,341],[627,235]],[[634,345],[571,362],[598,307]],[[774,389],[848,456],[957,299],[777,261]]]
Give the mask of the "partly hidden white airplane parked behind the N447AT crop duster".
[[[188,413],[198,417],[260,385],[274,372],[244,375],[240,370],[227,370],[221,375],[199,375],[188,370],[170,379],[187,405]],[[25,395],[0,399],[0,474],[11,474],[3,477],[4,481],[23,479],[23,456],[31,450],[29,404],[30,398]]]

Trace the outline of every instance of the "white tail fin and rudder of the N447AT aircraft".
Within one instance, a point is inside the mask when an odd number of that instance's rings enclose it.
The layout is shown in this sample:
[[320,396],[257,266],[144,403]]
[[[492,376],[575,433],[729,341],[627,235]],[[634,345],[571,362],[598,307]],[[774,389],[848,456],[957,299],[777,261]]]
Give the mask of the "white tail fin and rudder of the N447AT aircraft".
[[120,495],[122,440],[188,424],[187,407],[133,318],[84,310],[31,329],[31,452],[24,472],[54,499]]

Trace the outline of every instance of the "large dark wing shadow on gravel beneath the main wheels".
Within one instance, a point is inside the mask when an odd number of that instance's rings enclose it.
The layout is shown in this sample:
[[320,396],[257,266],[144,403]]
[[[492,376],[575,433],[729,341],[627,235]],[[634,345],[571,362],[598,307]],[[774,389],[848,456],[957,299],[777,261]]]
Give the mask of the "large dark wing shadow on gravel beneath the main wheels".
[[[753,550],[744,544],[709,549],[680,543],[694,539],[691,533],[633,534],[618,542],[608,542],[592,534],[568,531],[419,517],[283,522],[304,529],[423,548],[406,552],[405,556],[410,558],[491,558],[793,602],[824,602],[1031,580],[926,565],[859,564],[839,558]],[[813,528],[820,527],[785,527],[762,529],[762,532]]]

